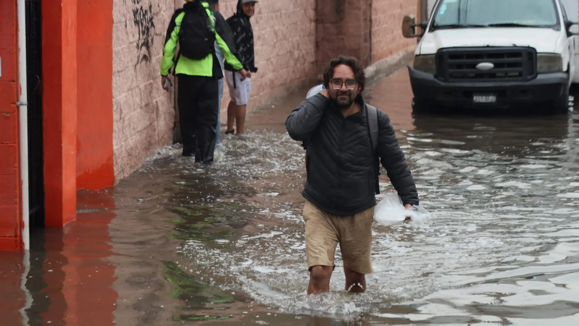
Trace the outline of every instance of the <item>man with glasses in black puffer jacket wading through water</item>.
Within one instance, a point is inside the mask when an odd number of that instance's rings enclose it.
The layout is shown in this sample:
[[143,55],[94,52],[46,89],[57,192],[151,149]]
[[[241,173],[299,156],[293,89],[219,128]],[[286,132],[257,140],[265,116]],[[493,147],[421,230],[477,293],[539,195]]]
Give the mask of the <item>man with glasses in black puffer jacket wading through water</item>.
[[302,194],[307,200],[303,209],[310,270],[307,294],[329,291],[338,243],[346,291],[365,291],[364,275],[372,273],[380,161],[405,207],[419,204],[390,118],[362,99],[365,81],[360,61],[345,56],[334,59],[324,71],[325,89],[299,104],[285,121],[292,139],[306,148]]

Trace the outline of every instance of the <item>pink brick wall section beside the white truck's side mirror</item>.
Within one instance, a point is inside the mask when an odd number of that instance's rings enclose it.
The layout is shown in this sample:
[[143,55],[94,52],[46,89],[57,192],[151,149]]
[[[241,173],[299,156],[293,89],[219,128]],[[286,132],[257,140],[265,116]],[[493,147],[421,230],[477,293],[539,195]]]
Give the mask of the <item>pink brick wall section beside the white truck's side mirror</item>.
[[416,0],[372,0],[372,63],[416,47],[402,37],[402,18],[417,13]]

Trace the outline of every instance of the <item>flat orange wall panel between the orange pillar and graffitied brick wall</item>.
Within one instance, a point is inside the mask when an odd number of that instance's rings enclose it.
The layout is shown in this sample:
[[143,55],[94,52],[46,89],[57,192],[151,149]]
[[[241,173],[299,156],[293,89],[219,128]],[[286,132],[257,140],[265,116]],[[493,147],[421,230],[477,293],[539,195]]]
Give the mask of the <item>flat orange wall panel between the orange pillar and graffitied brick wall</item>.
[[77,3],[78,189],[98,190],[115,184],[112,144],[112,5],[112,1],[102,0],[83,0]]

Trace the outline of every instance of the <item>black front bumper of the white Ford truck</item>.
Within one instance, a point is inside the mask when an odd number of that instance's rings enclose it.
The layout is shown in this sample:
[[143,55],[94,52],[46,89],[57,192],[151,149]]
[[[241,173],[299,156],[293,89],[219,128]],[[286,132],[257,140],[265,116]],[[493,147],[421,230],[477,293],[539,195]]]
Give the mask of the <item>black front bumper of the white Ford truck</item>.
[[[567,73],[539,74],[527,81],[443,82],[434,75],[408,67],[416,102],[445,107],[483,108],[543,104],[559,99],[566,91]],[[495,103],[474,103],[475,94],[496,95]]]

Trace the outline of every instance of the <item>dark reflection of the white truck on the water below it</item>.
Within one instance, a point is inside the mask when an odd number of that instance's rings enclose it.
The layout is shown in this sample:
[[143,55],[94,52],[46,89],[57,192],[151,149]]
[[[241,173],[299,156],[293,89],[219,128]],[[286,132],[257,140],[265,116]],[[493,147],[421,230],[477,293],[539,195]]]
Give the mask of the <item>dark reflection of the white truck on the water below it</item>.
[[466,150],[462,152],[464,155],[476,154],[472,151],[483,151],[521,158],[538,155],[560,161],[556,155],[565,154],[570,148],[566,140],[572,137],[572,117],[414,115],[416,129],[406,133],[406,137],[417,148],[425,151],[430,145],[450,154],[461,154],[461,150]]

